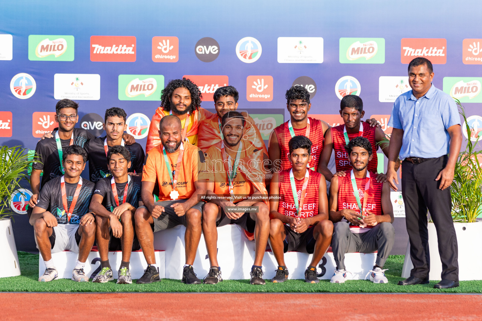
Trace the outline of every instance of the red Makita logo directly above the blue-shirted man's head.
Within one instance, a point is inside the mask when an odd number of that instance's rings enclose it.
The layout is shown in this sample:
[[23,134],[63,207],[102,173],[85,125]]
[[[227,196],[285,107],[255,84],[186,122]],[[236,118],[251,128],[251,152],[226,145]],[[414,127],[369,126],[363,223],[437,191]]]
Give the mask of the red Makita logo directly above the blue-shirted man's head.
[[403,38],[401,44],[402,64],[408,64],[416,57],[426,57],[432,64],[445,64],[446,39]]

